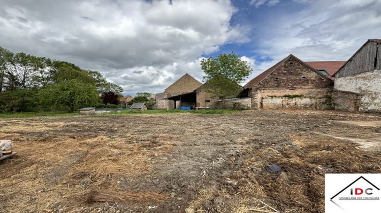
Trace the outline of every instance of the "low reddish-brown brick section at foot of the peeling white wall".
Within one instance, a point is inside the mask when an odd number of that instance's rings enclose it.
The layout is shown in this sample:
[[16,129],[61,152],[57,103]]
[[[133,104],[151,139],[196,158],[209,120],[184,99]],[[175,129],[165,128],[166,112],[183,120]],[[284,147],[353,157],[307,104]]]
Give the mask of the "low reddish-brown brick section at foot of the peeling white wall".
[[353,93],[334,90],[332,92],[333,107],[335,110],[356,112],[359,111],[362,96]]

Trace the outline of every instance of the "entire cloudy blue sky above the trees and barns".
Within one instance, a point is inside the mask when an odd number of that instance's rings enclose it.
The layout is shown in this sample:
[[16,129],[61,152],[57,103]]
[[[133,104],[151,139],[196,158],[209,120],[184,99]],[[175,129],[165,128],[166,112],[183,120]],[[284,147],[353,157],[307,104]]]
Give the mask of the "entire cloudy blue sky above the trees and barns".
[[381,0],[0,0],[0,46],[99,70],[123,94],[163,92],[203,58],[253,73],[282,58],[347,60],[381,39]]

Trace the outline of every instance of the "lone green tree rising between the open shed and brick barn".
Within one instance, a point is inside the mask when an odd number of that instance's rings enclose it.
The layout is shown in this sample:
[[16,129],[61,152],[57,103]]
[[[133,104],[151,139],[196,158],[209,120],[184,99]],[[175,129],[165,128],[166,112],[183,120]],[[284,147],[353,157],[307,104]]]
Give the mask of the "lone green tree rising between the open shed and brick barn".
[[238,84],[252,72],[250,63],[241,60],[234,53],[202,59],[201,68],[205,73],[204,81],[207,82],[205,87],[223,100],[223,103],[227,97],[238,95],[242,90]]

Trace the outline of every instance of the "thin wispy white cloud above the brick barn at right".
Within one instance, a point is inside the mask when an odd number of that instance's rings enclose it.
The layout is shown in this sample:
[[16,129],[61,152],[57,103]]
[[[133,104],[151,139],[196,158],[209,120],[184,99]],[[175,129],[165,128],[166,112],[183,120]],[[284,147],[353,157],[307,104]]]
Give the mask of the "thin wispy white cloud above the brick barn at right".
[[[304,9],[274,14],[263,24],[256,54],[263,70],[290,53],[302,60],[347,60],[367,39],[381,37],[381,1],[294,0]],[[283,7],[290,7],[283,6]]]

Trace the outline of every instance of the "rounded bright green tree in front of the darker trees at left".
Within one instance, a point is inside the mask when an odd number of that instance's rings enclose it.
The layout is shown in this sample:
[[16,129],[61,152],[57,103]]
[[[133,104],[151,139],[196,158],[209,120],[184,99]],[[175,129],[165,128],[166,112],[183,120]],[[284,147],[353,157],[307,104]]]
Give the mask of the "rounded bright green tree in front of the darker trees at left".
[[95,86],[76,79],[51,84],[40,91],[40,102],[53,108],[68,107],[70,112],[82,107],[92,107],[98,101]]

